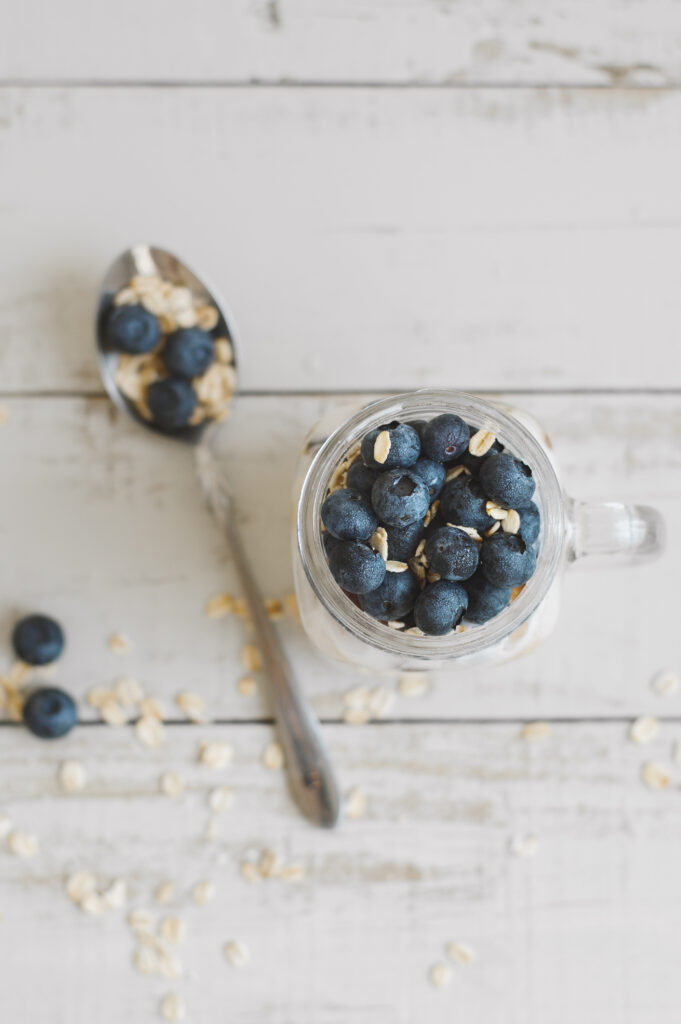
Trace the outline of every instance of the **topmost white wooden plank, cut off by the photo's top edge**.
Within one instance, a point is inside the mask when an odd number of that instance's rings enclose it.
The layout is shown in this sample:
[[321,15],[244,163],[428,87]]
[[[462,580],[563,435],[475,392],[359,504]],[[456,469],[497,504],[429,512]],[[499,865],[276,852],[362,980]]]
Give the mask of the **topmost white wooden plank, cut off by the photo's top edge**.
[[673,0],[26,0],[6,29],[2,74],[24,81],[659,85],[679,82],[681,44]]

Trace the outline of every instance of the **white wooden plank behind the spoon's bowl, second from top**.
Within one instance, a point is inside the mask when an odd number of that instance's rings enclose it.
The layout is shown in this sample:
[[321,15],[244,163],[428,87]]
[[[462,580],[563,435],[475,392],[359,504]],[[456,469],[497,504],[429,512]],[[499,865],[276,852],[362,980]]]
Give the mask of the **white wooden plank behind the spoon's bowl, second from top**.
[[19,89],[0,111],[4,391],[98,388],[97,282],[140,234],[224,291],[247,389],[681,385],[680,93]]

